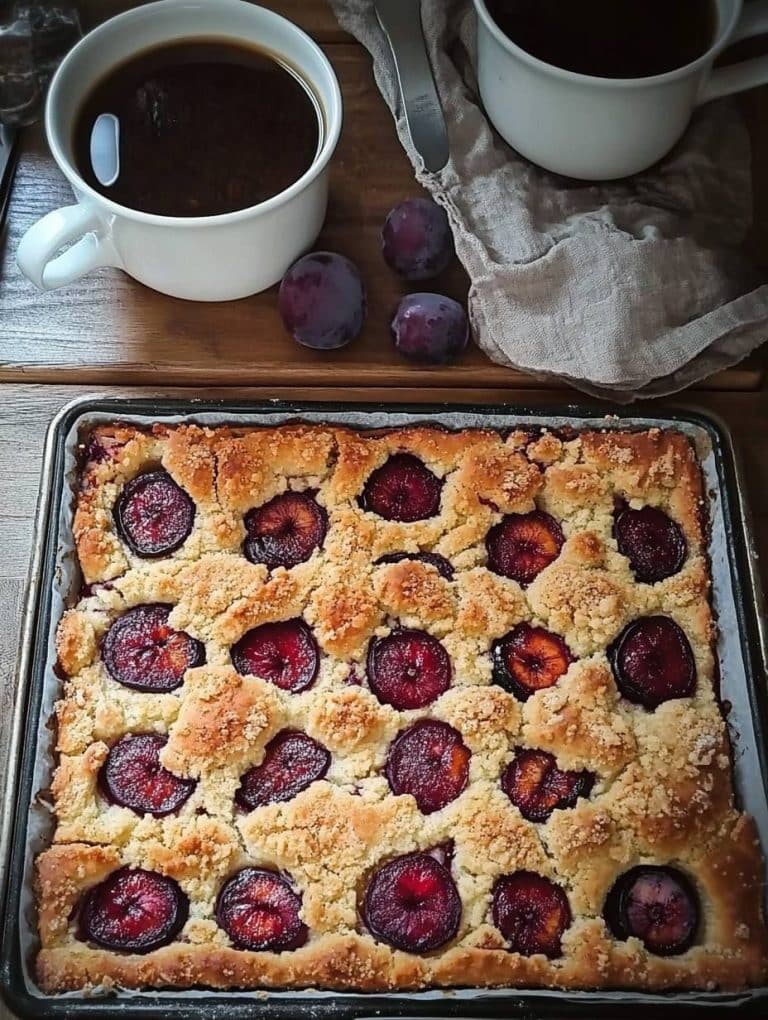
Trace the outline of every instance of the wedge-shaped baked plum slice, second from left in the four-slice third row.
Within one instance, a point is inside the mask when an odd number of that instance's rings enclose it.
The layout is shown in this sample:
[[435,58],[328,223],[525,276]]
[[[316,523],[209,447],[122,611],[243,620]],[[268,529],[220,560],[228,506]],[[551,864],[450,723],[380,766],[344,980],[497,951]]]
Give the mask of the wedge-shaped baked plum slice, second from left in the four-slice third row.
[[330,752],[307,733],[284,729],[264,748],[264,760],[240,780],[235,800],[244,811],[290,801],[322,777]]

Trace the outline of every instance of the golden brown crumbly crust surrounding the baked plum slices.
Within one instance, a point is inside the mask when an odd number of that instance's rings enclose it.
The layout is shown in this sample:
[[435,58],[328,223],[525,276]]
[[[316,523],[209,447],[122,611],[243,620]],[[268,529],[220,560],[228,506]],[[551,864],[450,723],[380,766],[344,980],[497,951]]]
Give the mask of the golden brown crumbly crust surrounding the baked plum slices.
[[[432,518],[386,521],[360,505],[370,472],[401,452],[445,481]],[[148,561],[121,542],[113,507],[131,478],[158,466],[191,495],[196,516],[175,553]],[[328,532],[307,562],[269,572],[242,555],[244,516],[287,489],[316,494]],[[658,506],[679,523],[688,555],[677,574],[635,581],[613,536],[617,498]],[[566,541],[523,589],[488,569],[484,540],[504,514],[535,508],[556,517]],[[94,429],[74,518],[91,589],[57,634],[66,680],[52,782],[57,827],[37,866],[41,986],[731,989],[765,980],[762,856],[752,821],[734,807],[713,687],[705,522],[696,455],[682,435],[659,429],[506,438],[426,426]],[[418,559],[378,562],[425,551],[451,561],[451,580]],[[171,625],[205,646],[206,665],[165,695],[121,686],[101,659],[114,619],[150,602],[171,605]],[[626,623],[653,613],[687,634],[698,685],[693,698],[648,712],[619,696],[607,652]],[[292,695],[234,670],[231,648],[244,633],[294,617],[312,627],[321,651],[308,691]],[[520,622],[560,634],[575,660],[524,704],[492,683],[492,645]],[[428,631],[451,658],[450,690],[419,712],[379,703],[366,682],[371,639],[398,625]],[[471,752],[467,788],[426,816],[411,796],[394,797],[383,774],[391,742],[423,716],[450,723]],[[287,803],[236,810],[242,774],[288,727],[329,750],[325,778]],[[110,806],[99,789],[111,745],[148,731],[168,737],[162,764],[197,780],[167,818]],[[591,797],[544,823],[526,821],[500,785],[520,746],[588,769]],[[462,900],[456,938],[426,957],[376,941],[359,915],[371,871],[448,840]],[[679,957],[617,940],[602,918],[616,878],[653,862],[685,871],[702,900],[702,929]],[[301,889],[310,929],[303,949],[242,952],[217,925],[222,882],[249,864],[285,870]],[[191,903],[181,936],[146,956],[109,953],[76,933],[80,898],[125,865],[173,877]],[[494,882],[518,869],[567,892],[573,923],[555,960],[507,952],[493,925]]]

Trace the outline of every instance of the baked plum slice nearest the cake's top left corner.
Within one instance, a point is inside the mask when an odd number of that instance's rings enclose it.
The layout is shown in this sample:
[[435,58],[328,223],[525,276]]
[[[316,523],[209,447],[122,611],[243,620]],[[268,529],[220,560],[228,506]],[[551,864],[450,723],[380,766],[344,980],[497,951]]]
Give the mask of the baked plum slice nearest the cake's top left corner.
[[167,471],[148,471],[123,487],[114,519],[133,553],[155,559],[175,552],[190,537],[195,504]]

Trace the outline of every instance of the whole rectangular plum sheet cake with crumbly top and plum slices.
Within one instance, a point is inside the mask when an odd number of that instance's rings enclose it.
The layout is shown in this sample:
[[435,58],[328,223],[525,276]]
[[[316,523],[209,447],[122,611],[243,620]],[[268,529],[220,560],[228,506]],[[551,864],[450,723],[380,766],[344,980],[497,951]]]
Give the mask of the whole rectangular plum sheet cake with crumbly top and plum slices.
[[99,425],[49,991],[766,979],[675,431]]

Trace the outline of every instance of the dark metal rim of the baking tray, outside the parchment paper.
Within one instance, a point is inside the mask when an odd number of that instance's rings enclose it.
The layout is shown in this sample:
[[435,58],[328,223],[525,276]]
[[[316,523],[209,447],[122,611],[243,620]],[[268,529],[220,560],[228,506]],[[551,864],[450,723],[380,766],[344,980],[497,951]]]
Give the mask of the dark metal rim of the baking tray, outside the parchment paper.
[[[322,391],[320,391],[320,394]],[[349,411],[381,410],[379,401],[365,402],[356,400],[346,403],[342,400],[291,400],[273,399],[248,402],[243,398],[229,400],[225,398],[189,398],[173,396],[140,396],[120,397],[112,394],[86,394],[76,397],[65,404],[51,420],[46,434],[44,456],[41,470],[39,501],[34,530],[33,558],[30,575],[24,594],[22,612],[21,648],[16,669],[16,702],[12,717],[11,741],[8,750],[8,772],[6,789],[3,798],[2,831],[0,831],[0,903],[3,904],[3,941],[0,951],[0,993],[13,1008],[19,1017],[34,1017],[35,1020],[55,1020],[55,1018],[90,1018],[118,1016],[123,1020],[148,1020],[148,1018],[168,1017],[180,1020],[192,1018],[224,1017],[233,1020],[248,1018],[286,1018],[289,1017],[335,1017],[339,1020],[353,1020],[372,1016],[398,1016],[406,1020],[405,1013],[410,1017],[502,1017],[502,1016],[542,1016],[547,1018],[578,1017],[578,1016],[610,1016],[613,1020],[622,1017],[638,1016],[637,1011],[644,1011],[652,1017],[662,1017],[674,1008],[681,1018],[722,1015],[723,1010],[738,1014],[738,1016],[761,1016],[768,1003],[768,987],[750,989],[746,992],[635,992],[620,990],[596,991],[558,991],[556,989],[478,989],[479,994],[473,999],[461,999],[452,996],[452,989],[440,989],[429,992],[394,991],[376,993],[355,992],[318,992],[315,999],[305,996],[302,999],[287,992],[256,991],[254,1000],[233,998],[226,991],[211,992],[211,999],[184,999],[183,992],[173,998],[171,994],[159,997],[151,991],[142,993],[141,1002],[130,1000],[109,1000],[101,997],[62,998],[30,996],[22,986],[18,974],[13,974],[12,951],[18,959],[17,939],[13,937],[13,913],[7,909],[8,902],[13,900],[11,866],[18,857],[18,828],[22,817],[19,817],[20,786],[23,780],[22,737],[31,723],[37,721],[38,712],[30,703],[30,695],[35,694],[35,668],[39,665],[39,645],[42,639],[47,639],[50,625],[50,585],[43,584],[44,574],[48,577],[53,573],[55,556],[49,556],[49,550],[56,527],[49,527],[52,513],[60,507],[64,488],[58,483],[60,478],[57,468],[60,467],[60,457],[67,432],[72,424],[88,412],[108,413],[119,420],[120,414],[147,414],[163,417],[187,414],[194,419],[198,413],[233,414],[269,414],[269,413],[302,413],[327,412],[329,415]],[[738,563],[730,558],[729,564],[733,581],[738,589],[741,584],[736,567],[746,570],[754,592],[754,599],[735,600],[735,610],[739,623],[745,628],[749,640],[743,642],[745,659],[748,664],[747,683],[750,702],[758,735],[768,725],[768,702],[765,684],[759,685],[768,672],[768,628],[765,626],[763,588],[759,570],[755,562],[754,539],[751,527],[751,512],[745,498],[743,486],[744,470],[733,444],[730,429],[722,418],[710,411],[698,407],[657,407],[656,405],[637,405],[624,412],[617,413],[615,405],[600,402],[537,405],[534,402],[505,403],[472,403],[460,404],[451,401],[406,403],[391,405],[387,410],[396,414],[418,416],[419,419],[431,419],[429,423],[439,425],[441,414],[464,412],[467,414],[497,415],[527,415],[539,417],[543,421],[552,417],[570,417],[573,419],[604,419],[604,427],[622,427],[625,419],[635,422],[634,427],[642,427],[637,421],[648,419],[649,427],[654,422],[663,420],[671,425],[675,423],[692,424],[706,431],[713,446],[716,457],[718,476],[722,488],[722,510],[727,530],[730,552],[737,557]],[[425,422],[426,423],[426,422]],[[260,423],[255,423],[260,424]],[[360,427],[360,426],[358,426]],[[46,481],[55,480],[56,484],[46,486]],[[41,619],[39,611],[43,609]],[[760,758],[763,786],[768,794],[768,747],[765,742],[759,742],[758,757]],[[23,832],[23,827],[21,827]],[[9,930],[10,929],[10,930]],[[15,945],[9,945],[10,942]],[[215,996],[215,999],[213,998]],[[514,1011],[514,1012],[512,1012]],[[540,1012],[541,1011],[541,1012]]]

